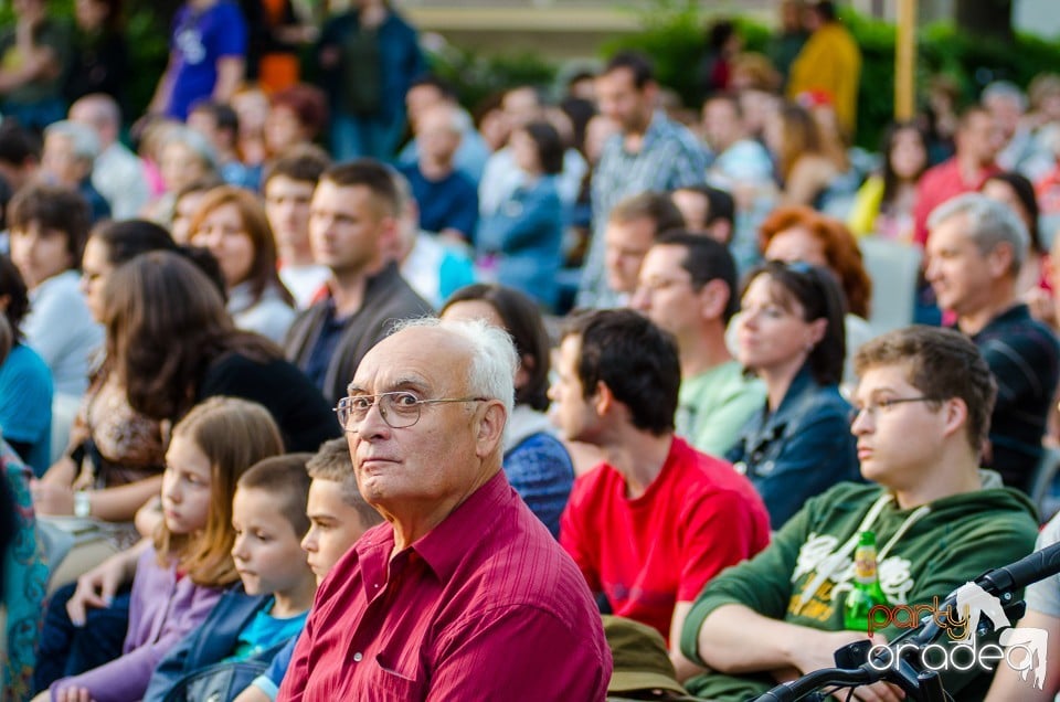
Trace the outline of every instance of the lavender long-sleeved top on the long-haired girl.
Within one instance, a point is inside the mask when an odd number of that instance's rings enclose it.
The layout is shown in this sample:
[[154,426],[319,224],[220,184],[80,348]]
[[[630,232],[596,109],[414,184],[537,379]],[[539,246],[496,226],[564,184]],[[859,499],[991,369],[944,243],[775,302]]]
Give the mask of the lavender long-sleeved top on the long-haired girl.
[[[153,551],[150,553],[153,554]],[[158,597],[152,600],[160,607],[169,607],[153,640],[134,648],[105,666],[55,682],[51,689],[52,700],[56,700],[59,692],[67,688],[87,688],[95,702],[139,700],[147,691],[151,673],[162,657],[206,618],[220,596],[221,591],[200,587],[191,583],[190,578],[184,578],[177,585],[171,598]],[[134,606],[135,603],[134,597]],[[129,613],[130,627],[131,619],[137,616],[137,613]],[[141,613],[139,616],[149,615]],[[126,645],[128,646],[128,641]]]

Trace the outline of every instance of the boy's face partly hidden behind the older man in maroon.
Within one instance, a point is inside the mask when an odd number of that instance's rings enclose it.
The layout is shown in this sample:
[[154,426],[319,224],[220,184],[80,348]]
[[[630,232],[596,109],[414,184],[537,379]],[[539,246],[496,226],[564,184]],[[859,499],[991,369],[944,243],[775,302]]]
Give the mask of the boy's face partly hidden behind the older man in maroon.
[[[344,438],[331,439],[306,465],[312,482],[306,513],[309,531],[301,547],[319,585],[350,546],[370,528],[383,521],[361,497],[353,478],[353,461]],[[272,702],[287,671],[297,637],[273,659],[272,666],[244,690],[235,702]]]

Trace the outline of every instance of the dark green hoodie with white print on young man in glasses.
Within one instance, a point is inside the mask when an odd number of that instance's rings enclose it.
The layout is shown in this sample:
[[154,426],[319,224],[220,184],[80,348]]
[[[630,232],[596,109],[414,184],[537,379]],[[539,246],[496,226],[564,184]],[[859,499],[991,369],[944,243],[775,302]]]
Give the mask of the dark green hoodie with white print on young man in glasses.
[[[765,551],[707,584],[685,621],[681,650],[702,663],[699,629],[711,611],[728,604],[791,624],[842,630],[854,550],[866,529],[876,532],[880,585],[891,605],[930,605],[934,596],[942,599],[983,572],[1027,555],[1038,532],[1034,506],[1021,492],[1001,487],[997,474],[983,475],[982,490],[911,510],[898,509],[879,486],[840,483],[808,500]],[[880,632],[893,639],[903,630],[892,626]],[[943,673],[943,683],[961,700],[979,700],[990,677],[973,667],[964,674]],[[709,673],[686,687],[724,702],[754,699],[775,684],[767,674]]]

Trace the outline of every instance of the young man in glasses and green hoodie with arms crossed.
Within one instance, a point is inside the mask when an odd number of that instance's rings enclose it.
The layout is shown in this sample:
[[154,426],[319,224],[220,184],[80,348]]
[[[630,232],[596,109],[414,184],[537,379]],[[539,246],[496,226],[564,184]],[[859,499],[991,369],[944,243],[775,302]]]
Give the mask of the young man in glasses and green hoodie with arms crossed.
[[[862,531],[876,533],[892,606],[931,605],[1034,549],[1035,508],[978,467],[997,391],[975,345],[910,327],[861,347],[855,368],[851,432],[861,474],[877,485],[841,483],[808,500],[765,551],[708,583],[681,635],[685,656],[713,671],[686,683],[700,698],[753,699],[834,666],[836,649],[866,638],[844,630]],[[900,631],[884,628],[877,641]],[[942,674],[961,700],[981,700],[990,682],[976,666]],[[856,698],[900,699],[882,683]]]

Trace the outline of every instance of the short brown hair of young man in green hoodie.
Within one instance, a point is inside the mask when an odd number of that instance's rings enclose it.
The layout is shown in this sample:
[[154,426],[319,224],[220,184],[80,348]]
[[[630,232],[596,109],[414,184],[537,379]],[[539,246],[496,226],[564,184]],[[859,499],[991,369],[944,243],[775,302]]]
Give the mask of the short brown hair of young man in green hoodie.
[[[904,364],[908,380],[928,397],[960,397],[968,407],[968,443],[983,448],[997,398],[997,382],[978,348],[953,329],[913,326],[866,342],[854,358],[857,375],[879,365]],[[935,404],[935,403],[932,403]]]

